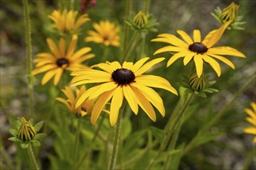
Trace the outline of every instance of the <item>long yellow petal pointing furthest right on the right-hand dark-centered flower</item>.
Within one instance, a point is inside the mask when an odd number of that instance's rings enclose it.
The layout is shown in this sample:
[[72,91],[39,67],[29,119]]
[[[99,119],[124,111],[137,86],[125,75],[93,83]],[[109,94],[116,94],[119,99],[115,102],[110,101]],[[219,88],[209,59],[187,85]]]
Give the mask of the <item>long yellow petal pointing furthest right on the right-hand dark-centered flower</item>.
[[237,51],[237,49],[234,49],[230,46],[219,46],[210,48],[207,51],[207,54],[217,54],[217,55],[230,55],[230,56],[240,56],[242,58],[245,58],[243,53],[240,53]]

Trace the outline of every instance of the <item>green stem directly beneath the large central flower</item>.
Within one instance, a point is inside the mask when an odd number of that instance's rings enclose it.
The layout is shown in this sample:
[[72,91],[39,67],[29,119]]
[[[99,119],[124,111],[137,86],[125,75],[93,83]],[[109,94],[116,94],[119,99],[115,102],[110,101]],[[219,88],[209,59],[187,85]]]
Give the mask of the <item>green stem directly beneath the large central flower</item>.
[[109,170],[114,169],[115,163],[116,163],[116,156],[118,153],[119,137],[120,137],[120,131],[121,131],[121,122],[122,122],[124,109],[125,109],[125,107],[122,108],[122,111],[119,114],[117,123],[116,123],[116,129],[115,129],[113,145],[112,145],[112,155],[109,160],[109,168],[108,168]]

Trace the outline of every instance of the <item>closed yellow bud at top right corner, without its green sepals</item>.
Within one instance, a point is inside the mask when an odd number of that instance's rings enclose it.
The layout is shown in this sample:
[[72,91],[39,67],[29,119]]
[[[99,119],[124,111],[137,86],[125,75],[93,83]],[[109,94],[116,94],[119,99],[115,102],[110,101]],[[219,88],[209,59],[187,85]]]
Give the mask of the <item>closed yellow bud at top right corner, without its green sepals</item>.
[[232,2],[230,5],[227,6],[227,8],[223,9],[223,12],[220,15],[220,19],[223,22],[228,22],[228,21],[234,22],[237,19],[238,8],[239,8],[239,5]]

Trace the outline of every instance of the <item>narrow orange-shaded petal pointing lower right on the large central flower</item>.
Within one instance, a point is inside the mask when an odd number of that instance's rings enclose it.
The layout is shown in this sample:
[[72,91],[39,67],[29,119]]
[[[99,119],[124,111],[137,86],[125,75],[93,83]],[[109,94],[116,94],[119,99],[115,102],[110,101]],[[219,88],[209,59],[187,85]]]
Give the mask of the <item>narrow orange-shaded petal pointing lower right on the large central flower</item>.
[[154,112],[154,108],[152,107],[150,102],[147,100],[147,98],[144,97],[144,95],[140,93],[140,90],[137,90],[136,87],[131,86],[131,89],[133,90],[137,98],[138,104],[146,112],[147,116],[150,117],[152,121],[157,121],[157,116]]

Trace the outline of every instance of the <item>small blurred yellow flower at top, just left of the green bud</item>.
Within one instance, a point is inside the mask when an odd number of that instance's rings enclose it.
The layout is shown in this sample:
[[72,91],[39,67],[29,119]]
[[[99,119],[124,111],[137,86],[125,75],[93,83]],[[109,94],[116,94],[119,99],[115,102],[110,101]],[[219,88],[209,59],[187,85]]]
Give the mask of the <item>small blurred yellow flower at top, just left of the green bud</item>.
[[89,36],[85,38],[85,42],[103,43],[105,46],[120,46],[119,43],[119,27],[109,21],[100,21],[99,24],[94,23],[95,31],[88,31]]

